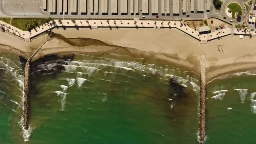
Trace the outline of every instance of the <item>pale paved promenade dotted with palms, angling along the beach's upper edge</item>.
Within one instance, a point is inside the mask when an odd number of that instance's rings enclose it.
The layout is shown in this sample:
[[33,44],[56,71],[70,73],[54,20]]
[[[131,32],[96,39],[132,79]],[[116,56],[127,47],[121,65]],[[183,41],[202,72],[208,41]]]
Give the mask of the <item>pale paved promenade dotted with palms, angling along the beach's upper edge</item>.
[[[54,19],[49,23],[43,24],[40,27],[32,29],[31,32],[23,31],[16,27],[11,26],[10,24],[6,24],[3,21],[0,21],[0,26],[3,30],[13,33],[21,38],[23,38],[26,42],[29,42],[31,38],[36,37],[44,32],[47,32],[56,27],[62,27],[63,29],[67,28],[76,28],[79,30],[80,27],[88,27],[90,29],[98,29],[99,27],[105,28],[152,28],[152,29],[160,29],[160,28],[177,28],[182,32],[187,33],[188,35],[194,37],[197,40],[200,40],[201,43],[207,43],[209,40],[218,39],[219,37],[223,37],[226,35],[232,34],[232,29],[220,29],[218,31],[212,32],[210,34],[199,35],[199,32],[195,29],[187,26],[182,21],[167,21],[167,20],[70,20],[64,19],[59,21],[59,19]],[[250,35],[249,32],[237,31],[233,32],[236,35]],[[256,32],[251,32],[252,35],[256,35]]]

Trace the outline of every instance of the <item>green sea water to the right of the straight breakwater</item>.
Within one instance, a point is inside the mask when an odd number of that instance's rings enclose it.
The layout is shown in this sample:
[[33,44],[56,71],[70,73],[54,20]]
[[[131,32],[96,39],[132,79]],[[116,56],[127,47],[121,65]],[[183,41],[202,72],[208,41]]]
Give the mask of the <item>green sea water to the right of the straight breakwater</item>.
[[255,143],[255,72],[238,73],[242,75],[215,80],[208,85],[206,144]]

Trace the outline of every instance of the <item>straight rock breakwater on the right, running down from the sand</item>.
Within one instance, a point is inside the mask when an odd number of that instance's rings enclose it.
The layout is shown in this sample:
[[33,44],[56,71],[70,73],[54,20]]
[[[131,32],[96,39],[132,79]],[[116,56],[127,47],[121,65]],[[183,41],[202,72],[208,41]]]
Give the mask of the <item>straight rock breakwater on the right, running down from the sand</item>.
[[200,59],[200,97],[199,97],[199,142],[204,143],[206,136],[206,80],[205,80],[205,55]]

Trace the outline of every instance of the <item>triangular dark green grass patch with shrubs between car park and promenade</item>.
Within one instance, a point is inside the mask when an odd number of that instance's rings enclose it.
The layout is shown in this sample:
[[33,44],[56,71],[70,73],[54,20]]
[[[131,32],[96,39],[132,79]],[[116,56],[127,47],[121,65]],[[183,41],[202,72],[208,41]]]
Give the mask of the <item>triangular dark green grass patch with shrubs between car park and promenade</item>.
[[51,19],[13,19],[11,21],[11,25],[26,31],[41,26],[48,21],[51,21]]

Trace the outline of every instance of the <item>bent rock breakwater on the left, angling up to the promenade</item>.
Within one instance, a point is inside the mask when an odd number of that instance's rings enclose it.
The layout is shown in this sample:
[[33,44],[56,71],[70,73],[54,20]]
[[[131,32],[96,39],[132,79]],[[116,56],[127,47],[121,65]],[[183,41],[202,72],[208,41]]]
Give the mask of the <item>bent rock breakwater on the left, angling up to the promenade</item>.
[[29,116],[30,116],[30,96],[29,96],[29,88],[30,88],[30,63],[33,57],[40,51],[42,46],[50,40],[52,33],[49,34],[48,38],[37,48],[37,50],[29,57],[25,65],[25,72],[24,72],[24,129],[27,130],[29,128]]

